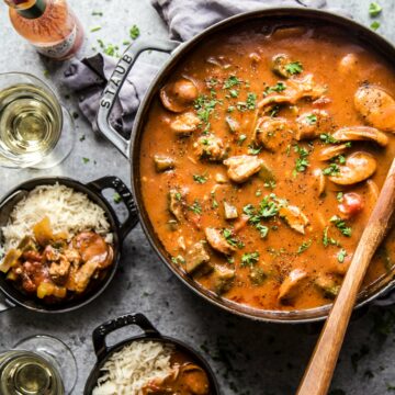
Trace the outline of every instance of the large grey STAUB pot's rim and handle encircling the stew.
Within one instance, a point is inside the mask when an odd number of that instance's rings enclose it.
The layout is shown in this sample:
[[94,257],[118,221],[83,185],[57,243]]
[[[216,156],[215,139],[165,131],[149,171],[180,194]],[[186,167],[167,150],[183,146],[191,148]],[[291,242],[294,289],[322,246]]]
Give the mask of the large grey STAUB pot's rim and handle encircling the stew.
[[[153,248],[165,262],[165,264],[191,290],[196,292],[200,296],[206,301],[224,308],[228,312],[242,315],[249,318],[276,321],[276,323],[306,323],[324,319],[330,309],[330,305],[311,308],[305,311],[294,312],[280,312],[280,311],[263,311],[242,306],[240,304],[233,303],[225,298],[221,298],[214,293],[201,287],[191,278],[187,276],[179,268],[173,266],[170,260],[169,253],[165,250],[160,244],[155,228],[150,223],[147,212],[144,207],[140,189],[140,166],[139,166],[139,151],[142,135],[146,124],[148,111],[150,109],[154,98],[158,94],[159,89],[165,84],[171,72],[185,59],[190,54],[194,52],[194,48],[207,43],[217,33],[224,30],[236,30],[238,27],[248,26],[252,23],[259,23],[264,32],[266,26],[278,23],[284,26],[294,25],[327,25],[335,26],[342,30],[348,36],[360,41],[368,46],[372,52],[379,53],[381,56],[390,61],[395,59],[395,48],[385,38],[357,23],[356,21],[346,16],[340,16],[331,12],[306,9],[306,8],[275,8],[263,9],[259,11],[248,12],[240,15],[229,18],[223,22],[219,22],[212,27],[206,29],[201,34],[187,43],[179,43],[176,41],[137,41],[131,45],[121,60],[119,61],[108,87],[104,89],[103,95],[100,102],[100,110],[98,114],[98,125],[100,131],[111,140],[120,151],[131,159],[132,170],[132,189],[135,198],[135,203],[138,208],[138,216]],[[114,105],[115,99],[122,88],[127,74],[132,69],[136,58],[145,50],[159,50],[170,53],[169,60],[165,64],[161,70],[158,72],[155,80],[151,82],[144,100],[138,109],[133,131],[129,140],[122,137],[110,125],[109,116]],[[385,276],[379,279],[369,289],[361,292],[357,307],[360,307],[368,302],[377,298],[384,293],[394,287],[394,273],[391,272]]]

